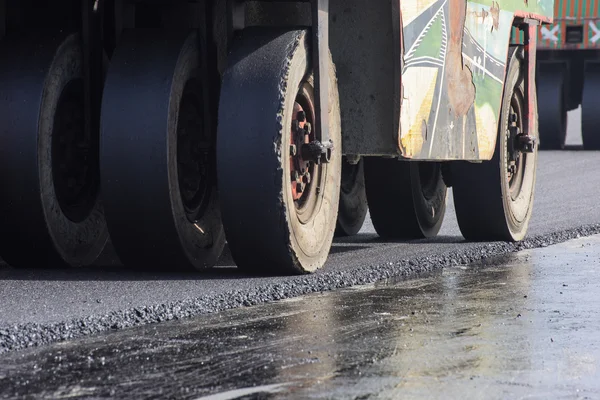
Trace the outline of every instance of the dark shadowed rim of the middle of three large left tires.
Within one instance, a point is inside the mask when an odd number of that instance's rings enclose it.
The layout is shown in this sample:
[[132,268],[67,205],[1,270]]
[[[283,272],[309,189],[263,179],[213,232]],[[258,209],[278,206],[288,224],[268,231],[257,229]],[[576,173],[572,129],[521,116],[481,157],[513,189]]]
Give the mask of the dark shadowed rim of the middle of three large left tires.
[[211,159],[210,134],[204,129],[200,83],[190,79],[184,89],[177,121],[177,177],[181,201],[188,220],[196,222],[210,201]]

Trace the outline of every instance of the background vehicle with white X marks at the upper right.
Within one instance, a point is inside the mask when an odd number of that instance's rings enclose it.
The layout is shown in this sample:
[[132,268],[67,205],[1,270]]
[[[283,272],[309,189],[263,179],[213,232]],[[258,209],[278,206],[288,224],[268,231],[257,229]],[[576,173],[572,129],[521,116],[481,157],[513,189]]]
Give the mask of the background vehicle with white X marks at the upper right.
[[581,106],[583,146],[600,150],[600,0],[555,2],[539,31],[537,85],[541,148],[564,147],[567,112]]

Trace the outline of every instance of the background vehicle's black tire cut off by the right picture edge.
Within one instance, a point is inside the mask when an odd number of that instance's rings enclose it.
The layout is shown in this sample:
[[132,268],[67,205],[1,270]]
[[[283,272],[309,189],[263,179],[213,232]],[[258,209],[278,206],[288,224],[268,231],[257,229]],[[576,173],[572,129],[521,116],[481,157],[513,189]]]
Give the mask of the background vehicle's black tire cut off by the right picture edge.
[[581,101],[581,136],[585,150],[600,150],[600,63],[586,65]]

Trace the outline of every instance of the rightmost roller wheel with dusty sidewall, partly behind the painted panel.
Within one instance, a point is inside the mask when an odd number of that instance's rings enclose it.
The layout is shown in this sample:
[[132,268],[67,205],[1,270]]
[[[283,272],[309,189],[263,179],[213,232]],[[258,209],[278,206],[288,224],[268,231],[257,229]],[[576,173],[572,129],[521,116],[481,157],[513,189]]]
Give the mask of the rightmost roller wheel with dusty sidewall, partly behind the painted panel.
[[518,241],[527,232],[533,208],[537,147],[533,153],[524,153],[516,146],[515,136],[523,130],[526,115],[521,51],[512,51],[509,56],[492,160],[452,165],[456,217],[467,240]]

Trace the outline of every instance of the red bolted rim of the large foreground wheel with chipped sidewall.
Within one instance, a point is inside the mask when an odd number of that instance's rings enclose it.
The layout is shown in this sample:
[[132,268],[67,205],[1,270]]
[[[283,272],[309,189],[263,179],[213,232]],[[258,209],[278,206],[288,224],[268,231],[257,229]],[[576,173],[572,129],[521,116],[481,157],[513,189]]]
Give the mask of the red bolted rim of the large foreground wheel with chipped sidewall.
[[302,223],[308,223],[317,211],[319,182],[323,168],[302,158],[302,145],[318,140],[312,129],[315,123],[313,91],[308,83],[302,83],[294,102],[290,127],[290,190],[296,215]]

